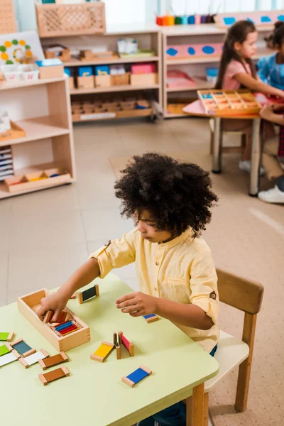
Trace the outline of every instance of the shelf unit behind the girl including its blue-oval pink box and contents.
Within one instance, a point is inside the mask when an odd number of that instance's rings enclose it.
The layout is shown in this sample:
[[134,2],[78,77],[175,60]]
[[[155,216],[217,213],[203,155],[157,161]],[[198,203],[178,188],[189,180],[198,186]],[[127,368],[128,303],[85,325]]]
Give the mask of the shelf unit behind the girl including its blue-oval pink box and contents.
[[[266,48],[264,36],[271,27],[261,28],[258,34],[256,55],[271,55]],[[222,43],[226,28],[220,29],[213,23],[198,26],[161,27],[163,33],[163,109],[165,117],[188,116],[182,111],[197,99],[197,90],[212,89],[216,81],[216,68],[222,54]],[[185,73],[195,84],[173,84],[175,72]],[[169,80],[172,80],[171,82]]]

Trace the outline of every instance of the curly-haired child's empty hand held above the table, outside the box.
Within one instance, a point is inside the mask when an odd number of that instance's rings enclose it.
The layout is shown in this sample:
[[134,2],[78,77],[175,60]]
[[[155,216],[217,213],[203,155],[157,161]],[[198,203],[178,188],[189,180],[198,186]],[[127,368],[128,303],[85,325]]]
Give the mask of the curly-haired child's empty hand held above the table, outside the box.
[[131,315],[131,317],[141,317],[141,315],[155,314],[157,309],[156,300],[157,297],[138,291],[117,299],[116,307],[121,309],[124,314]]

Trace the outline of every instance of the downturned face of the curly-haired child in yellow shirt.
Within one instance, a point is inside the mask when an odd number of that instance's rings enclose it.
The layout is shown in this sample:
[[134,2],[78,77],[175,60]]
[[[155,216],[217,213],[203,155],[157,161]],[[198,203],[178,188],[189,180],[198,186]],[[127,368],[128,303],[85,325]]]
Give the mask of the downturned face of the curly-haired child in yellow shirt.
[[158,231],[156,229],[155,219],[147,210],[143,210],[136,220],[136,225],[141,236],[151,243],[163,243],[173,239],[173,235],[169,231]]

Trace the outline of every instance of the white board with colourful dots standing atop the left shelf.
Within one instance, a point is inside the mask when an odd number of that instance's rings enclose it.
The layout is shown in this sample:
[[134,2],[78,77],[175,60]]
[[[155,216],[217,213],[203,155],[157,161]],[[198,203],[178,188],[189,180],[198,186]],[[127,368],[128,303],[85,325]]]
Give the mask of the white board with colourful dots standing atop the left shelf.
[[43,49],[38,33],[0,34],[0,65],[18,65],[43,60]]

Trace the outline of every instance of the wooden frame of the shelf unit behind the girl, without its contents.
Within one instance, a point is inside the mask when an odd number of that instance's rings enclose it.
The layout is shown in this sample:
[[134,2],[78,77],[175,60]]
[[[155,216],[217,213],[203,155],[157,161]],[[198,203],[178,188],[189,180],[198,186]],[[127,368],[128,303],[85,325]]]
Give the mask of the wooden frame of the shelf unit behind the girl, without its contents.
[[[273,51],[266,48],[263,38],[270,34],[273,26],[266,28],[258,28],[258,43],[254,60],[262,56],[272,55]],[[192,58],[175,58],[166,57],[166,47],[168,45],[190,45],[197,43],[222,43],[226,35],[226,28],[220,29],[212,24],[188,25],[188,26],[168,26],[161,27],[163,34],[163,111],[165,118],[178,118],[187,116],[187,114],[170,114],[168,113],[168,103],[190,102],[197,99],[197,90],[212,89],[214,84],[206,80],[206,67],[210,64],[216,66],[220,60],[220,56],[211,56],[208,58],[192,57]],[[195,87],[167,87],[167,70],[181,70],[186,72],[197,83]]]

